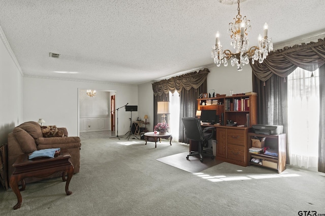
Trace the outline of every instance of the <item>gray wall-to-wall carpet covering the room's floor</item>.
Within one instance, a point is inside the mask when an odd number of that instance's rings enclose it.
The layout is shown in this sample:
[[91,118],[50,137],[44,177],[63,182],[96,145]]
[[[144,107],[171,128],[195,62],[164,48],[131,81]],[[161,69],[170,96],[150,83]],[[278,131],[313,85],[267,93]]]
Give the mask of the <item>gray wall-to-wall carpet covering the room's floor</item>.
[[[162,141],[83,139],[80,172],[64,192],[60,178],[26,185],[21,208],[0,189],[1,215],[299,215],[325,213],[325,175],[220,163],[191,174],[156,159],[188,152]],[[186,159],[184,160],[186,162]]]

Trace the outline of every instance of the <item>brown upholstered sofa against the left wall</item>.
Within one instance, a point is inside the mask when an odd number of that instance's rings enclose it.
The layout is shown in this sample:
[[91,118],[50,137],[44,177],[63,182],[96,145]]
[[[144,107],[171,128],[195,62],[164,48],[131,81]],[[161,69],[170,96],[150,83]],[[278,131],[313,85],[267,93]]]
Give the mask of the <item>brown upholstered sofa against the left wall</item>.
[[[51,128],[53,129],[53,128]],[[68,149],[71,158],[70,161],[75,167],[74,173],[80,169],[80,138],[68,137],[68,131],[65,127],[57,127],[52,135],[45,133],[45,129],[35,121],[28,121],[16,126],[13,132],[8,135],[8,178],[10,178],[14,168],[12,164],[20,154],[28,154],[40,149],[61,148]],[[43,134],[44,133],[44,134]],[[54,136],[54,137],[51,137]],[[60,136],[60,137],[58,137]],[[63,137],[62,137],[63,136]],[[54,174],[46,178],[25,179],[26,183],[36,182],[43,179],[58,177],[60,174]]]

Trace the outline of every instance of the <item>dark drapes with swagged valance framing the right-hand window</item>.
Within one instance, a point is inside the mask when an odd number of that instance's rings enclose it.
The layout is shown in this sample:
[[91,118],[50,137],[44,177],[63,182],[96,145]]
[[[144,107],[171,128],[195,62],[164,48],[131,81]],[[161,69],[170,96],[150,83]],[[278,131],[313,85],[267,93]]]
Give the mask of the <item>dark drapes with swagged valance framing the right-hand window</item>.
[[[287,84],[285,77],[297,67],[308,71],[320,69],[320,133],[319,133],[319,170],[325,171],[324,153],[324,65],[325,40],[309,44],[285,47],[272,52],[262,64],[252,64],[253,91],[258,94],[258,122],[262,124],[282,124],[287,133]],[[282,77],[282,78],[281,78]],[[278,118],[278,120],[277,120]],[[288,147],[287,147],[288,150]],[[288,151],[287,151],[288,154]],[[287,156],[287,158],[289,158]],[[288,159],[287,159],[288,161]],[[289,162],[289,161],[288,161]]]

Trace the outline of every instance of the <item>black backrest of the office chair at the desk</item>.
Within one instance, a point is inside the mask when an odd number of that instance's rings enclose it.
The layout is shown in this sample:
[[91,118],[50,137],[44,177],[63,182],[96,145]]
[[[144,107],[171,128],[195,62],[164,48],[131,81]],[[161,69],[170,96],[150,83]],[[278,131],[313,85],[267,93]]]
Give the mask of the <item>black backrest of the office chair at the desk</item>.
[[201,122],[198,118],[183,117],[182,121],[185,127],[185,135],[187,139],[203,141]]

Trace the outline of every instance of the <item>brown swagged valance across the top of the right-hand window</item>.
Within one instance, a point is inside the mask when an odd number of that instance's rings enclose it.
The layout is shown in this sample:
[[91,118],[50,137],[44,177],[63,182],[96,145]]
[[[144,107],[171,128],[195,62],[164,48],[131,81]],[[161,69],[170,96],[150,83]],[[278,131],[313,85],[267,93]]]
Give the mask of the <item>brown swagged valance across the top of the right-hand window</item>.
[[271,52],[262,64],[250,62],[253,73],[261,81],[268,80],[273,74],[287,77],[297,67],[314,71],[323,64],[325,64],[325,38],[318,39],[318,42]]

